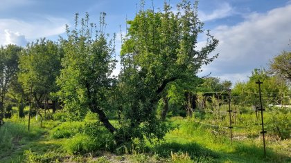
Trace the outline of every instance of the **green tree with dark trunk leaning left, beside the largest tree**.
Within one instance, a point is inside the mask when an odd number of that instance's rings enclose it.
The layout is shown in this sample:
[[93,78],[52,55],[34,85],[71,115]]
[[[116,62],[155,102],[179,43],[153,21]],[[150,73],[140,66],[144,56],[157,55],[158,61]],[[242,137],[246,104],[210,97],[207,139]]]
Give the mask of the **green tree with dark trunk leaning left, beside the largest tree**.
[[58,95],[74,117],[78,119],[88,110],[97,113],[100,122],[114,133],[116,128],[105,114],[108,93],[114,81],[111,74],[116,63],[114,39],[107,41],[104,31],[105,12],[100,15],[99,28],[89,22],[88,14],[85,19],[79,19],[76,14],[75,21],[75,28],[69,30],[67,26],[67,38],[60,40],[64,58],[58,78]]

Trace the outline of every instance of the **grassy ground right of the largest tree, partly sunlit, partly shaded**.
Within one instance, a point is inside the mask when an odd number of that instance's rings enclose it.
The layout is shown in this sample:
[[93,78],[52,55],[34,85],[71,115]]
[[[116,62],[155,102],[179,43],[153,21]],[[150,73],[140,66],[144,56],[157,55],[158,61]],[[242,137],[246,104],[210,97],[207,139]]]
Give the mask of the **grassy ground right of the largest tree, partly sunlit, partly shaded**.
[[[211,126],[195,123],[193,119],[174,117],[179,128],[170,132],[161,143],[161,151],[170,153],[188,152],[191,160],[200,162],[290,162],[291,140],[267,140],[267,156],[263,155],[261,137],[244,140],[229,140],[229,133],[213,133]],[[281,149],[278,143],[285,144]],[[170,145],[172,144],[172,145]],[[289,145],[288,145],[289,144]],[[274,150],[276,148],[276,150]],[[166,152],[167,151],[167,152]]]

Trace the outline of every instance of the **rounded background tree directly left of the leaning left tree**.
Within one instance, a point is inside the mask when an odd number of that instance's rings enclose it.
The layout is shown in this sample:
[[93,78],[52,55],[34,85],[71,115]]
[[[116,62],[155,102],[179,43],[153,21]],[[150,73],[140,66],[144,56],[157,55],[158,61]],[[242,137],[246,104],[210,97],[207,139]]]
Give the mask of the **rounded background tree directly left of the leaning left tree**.
[[26,95],[30,94],[30,87],[32,87],[33,99],[37,109],[35,111],[38,113],[44,99],[52,99],[50,93],[58,90],[55,80],[60,74],[62,55],[60,46],[46,39],[28,44],[21,52],[18,79]]

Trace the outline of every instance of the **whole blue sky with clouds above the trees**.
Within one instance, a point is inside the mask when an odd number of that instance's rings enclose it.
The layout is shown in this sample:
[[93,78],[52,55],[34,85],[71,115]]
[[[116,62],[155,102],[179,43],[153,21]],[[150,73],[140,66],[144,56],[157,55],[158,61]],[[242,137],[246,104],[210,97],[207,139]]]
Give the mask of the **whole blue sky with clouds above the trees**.
[[[89,12],[96,23],[99,13],[106,12],[106,32],[119,33],[119,26],[125,31],[125,19],[134,18],[139,1],[0,0],[0,45],[25,46],[40,37],[57,41],[65,24],[73,24],[76,12]],[[153,1],[157,10],[164,3]],[[178,2],[170,0],[173,7]],[[267,67],[272,57],[291,51],[291,0],[200,0],[199,17],[220,41],[213,52],[219,53],[218,59],[203,66],[200,76],[211,73],[233,83],[246,81],[254,68]],[[205,43],[200,38],[198,47]],[[118,53],[120,40],[116,49]]]

